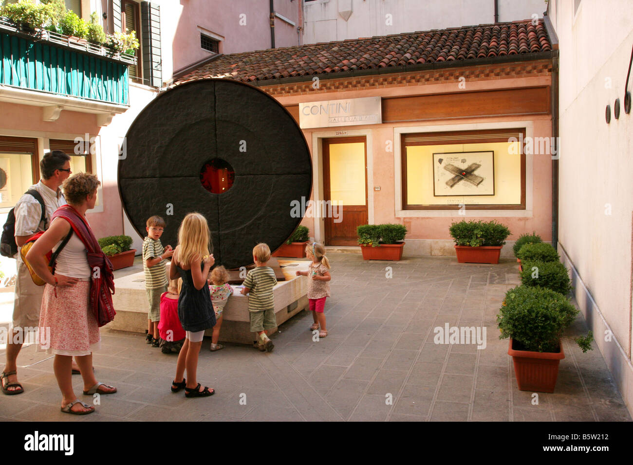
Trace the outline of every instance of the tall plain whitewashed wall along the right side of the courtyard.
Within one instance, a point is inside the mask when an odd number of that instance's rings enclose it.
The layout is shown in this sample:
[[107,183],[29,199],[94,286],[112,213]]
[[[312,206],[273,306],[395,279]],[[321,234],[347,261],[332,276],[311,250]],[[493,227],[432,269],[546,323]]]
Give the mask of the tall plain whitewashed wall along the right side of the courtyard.
[[[624,113],[633,9],[628,0],[582,0],[577,11],[571,0],[551,1],[560,40],[559,243],[582,280],[575,285],[579,306],[633,411],[633,113]],[[605,341],[604,328],[613,341]]]

